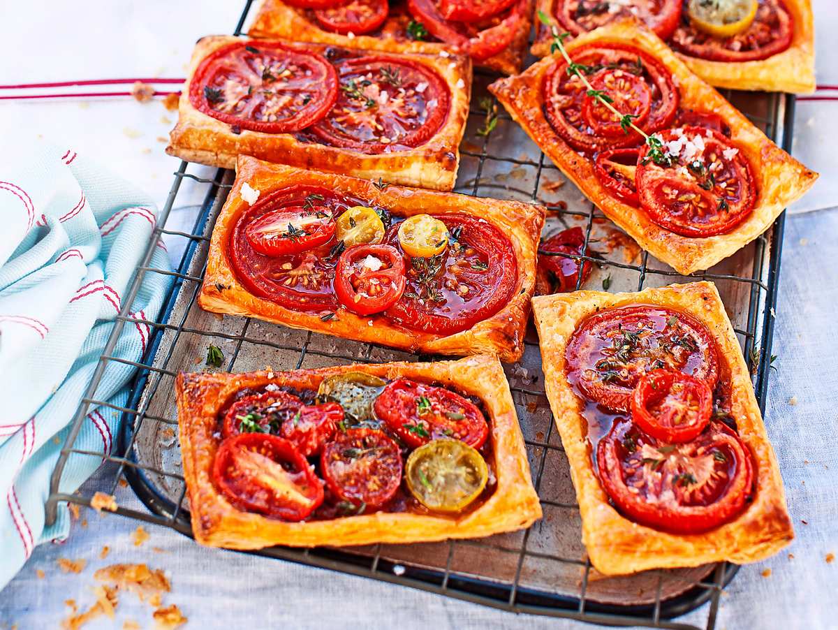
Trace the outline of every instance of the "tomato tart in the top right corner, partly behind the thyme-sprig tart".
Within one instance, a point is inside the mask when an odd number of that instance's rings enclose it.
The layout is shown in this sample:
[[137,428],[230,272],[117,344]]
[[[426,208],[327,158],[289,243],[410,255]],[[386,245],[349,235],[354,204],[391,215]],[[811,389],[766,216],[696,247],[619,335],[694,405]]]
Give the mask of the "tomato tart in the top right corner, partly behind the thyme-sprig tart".
[[[811,0],[538,0],[538,9],[573,36],[639,19],[717,87],[815,91]],[[546,56],[550,45],[539,24],[532,53]]]

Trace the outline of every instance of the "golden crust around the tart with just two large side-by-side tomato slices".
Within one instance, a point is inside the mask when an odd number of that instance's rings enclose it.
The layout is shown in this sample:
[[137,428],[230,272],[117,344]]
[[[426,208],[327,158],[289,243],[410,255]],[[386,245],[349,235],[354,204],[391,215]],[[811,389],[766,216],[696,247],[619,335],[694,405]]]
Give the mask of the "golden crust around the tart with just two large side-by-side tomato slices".
[[[367,154],[347,148],[327,147],[317,142],[301,142],[292,133],[251,132],[246,129],[233,133],[230,125],[195,109],[189,101],[189,85],[195,70],[208,54],[235,41],[241,39],[216,35],[204,37],[196,44],[180,95],[178,124],[172,130],[166,147],[169,155],[222,168],[234,168],[235,158],[239,155],[252,155],[268,162],[299,168],[366,178],[381,177],[387,182],[434,190],[451,190],[454,187],[460,158],[458,147],[465,132],[471,93],[472,69],[468,57],[450,55],[443,59],[438,54],[409,55],[411,61],[430,66],[442,77],[451,91],[451,109],[439,131],[419,147]],[[304,45],[318,53],[327,48],[325,44]]]

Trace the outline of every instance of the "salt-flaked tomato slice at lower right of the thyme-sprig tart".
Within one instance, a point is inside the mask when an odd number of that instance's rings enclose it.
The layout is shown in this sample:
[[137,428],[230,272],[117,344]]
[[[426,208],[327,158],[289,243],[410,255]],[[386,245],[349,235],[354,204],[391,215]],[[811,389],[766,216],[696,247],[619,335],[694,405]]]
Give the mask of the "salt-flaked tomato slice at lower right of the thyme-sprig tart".
[[640,151],[635,183],[640,205],[656,224],[682,236],[726,234],[757,201],[751,165],[721,133],[683,127],[660,133],[669,163]]

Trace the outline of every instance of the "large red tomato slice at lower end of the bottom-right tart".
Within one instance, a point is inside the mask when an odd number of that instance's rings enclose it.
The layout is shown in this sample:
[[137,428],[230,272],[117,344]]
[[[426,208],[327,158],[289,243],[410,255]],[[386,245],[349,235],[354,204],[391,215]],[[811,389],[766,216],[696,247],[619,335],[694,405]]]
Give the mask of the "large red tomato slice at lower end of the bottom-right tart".
[[665,444],[630,421],[614,422],[597,447],[600,482],[639,524],[698,534],[735,518],[753,493],[753,460],[721,422],[691,442]]

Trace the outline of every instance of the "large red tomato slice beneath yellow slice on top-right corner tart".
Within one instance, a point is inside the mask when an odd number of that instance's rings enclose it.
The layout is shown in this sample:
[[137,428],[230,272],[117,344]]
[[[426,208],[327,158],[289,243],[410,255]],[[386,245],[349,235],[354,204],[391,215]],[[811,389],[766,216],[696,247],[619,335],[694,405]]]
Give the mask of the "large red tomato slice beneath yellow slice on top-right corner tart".
[[782,53],[791,45],[794,18],[783,0],[759,0],[750,25],[730,37],[706,33],[691,20],[675,29],[669,44],[690,57],[711,61],[758,61]]

